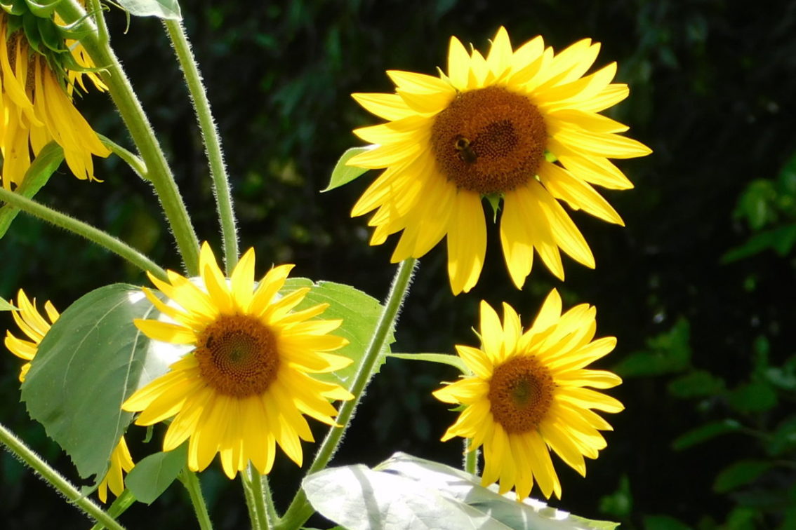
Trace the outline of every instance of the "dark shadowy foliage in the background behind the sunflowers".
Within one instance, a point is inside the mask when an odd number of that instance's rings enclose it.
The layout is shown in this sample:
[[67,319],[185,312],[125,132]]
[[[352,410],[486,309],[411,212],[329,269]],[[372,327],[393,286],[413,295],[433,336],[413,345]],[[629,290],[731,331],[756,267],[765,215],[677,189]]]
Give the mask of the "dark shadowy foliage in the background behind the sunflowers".
[[[526,323],[551,287],[566,305],[595,304],[598,334],[618,337],[599,364],[625,377],[611,393],[626,411],[610,418],[615,432],[586,478],[559,462],[564,500],[555,504],[626,528],[796,528],[796,2],[183,3],[224,141],[242,246],[256,248],[260,272],[271,261],[294,262],[298,275],[353,284],[377,298],[393,273],[394,240],[367,246],[365,219],[349,218],[373,176],[318,193],[340,153],[360,145],[349,131],[376,122],[349,94],[392,91],[385,69],[433,74],[445,65],[451,35],[486,50],[499,25],[515,44],[537,34],[556,49],[583,37],[602,42],[598,64],[618,61],[618,81],[631,87],[610,114],[654,149],[620,162],[636,188],[604,193],[626,228],[574,213],[597,268],[567,260],[561,283],[536,265],[521,292],[505,273],[494,227],[484,273],[469,294],[451,295],[444,247],[432,250],[394,350],[474,345],[470,327],[482,299],[508,301]],[[123,14],[109,17],[113,44],[200,237],[218,248],[201,139],[161,25],[134,19],[125,34]],[[79,106],[96,130],[129,143],[103,95],[86,95]],[[97,174],[103,184],[86,184],[62,168],[37,198],[178,268],[149,187],[112,158]],[[146,284],[119,258],[24,216],[0,241],[0,255],[6,298],[24,287],[66,308],[103,284]],[[75,478],[68,458],[18,404],[18,360],[6,354],[0,366],[2,422]],[[429,395],[451,377],[445,367],[388,362],[335,462],[374,464],[408,451],[456,465],[461,447],[439,442],[455,416]],[[136,451],[149,449],[134,440]],[[281,460],[271,484],[284,505],[298,472]],[[218,528],[244,527],[240,489],[214,468],[203,485]],[[86,528],[80,513],[7,453],[0,492],[4,528],[55,520],[59,528]],[[173,486],[123,522],[187,528],[191,516],[185,493]]]

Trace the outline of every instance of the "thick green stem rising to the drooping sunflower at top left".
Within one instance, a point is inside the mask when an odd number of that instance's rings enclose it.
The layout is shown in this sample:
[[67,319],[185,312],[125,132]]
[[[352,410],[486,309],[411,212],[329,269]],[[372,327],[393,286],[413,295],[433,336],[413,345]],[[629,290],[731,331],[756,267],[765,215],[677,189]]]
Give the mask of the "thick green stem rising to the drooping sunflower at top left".
[[[77,0],[60,2],[57,11],[68,23],[85,16],[85,10]],[[101,12],[96,13],[96,17],[97,19],[102,17]],[[100,34],[91,18],[82,21],[80,26],[89,30],[80,39],[80,43],[86,48],[95,64],[104,68],[103,82],[107,84],[111,99],[119,109],[119,114],[122,115],[127,130],[130,131],[135,146],[146,164],[147,176],[154,185],[163,212],[174,232],[174,239],[185,263],[185,270],[190,276],[196,276],[199,270],[199,240],[193,231],[185,203],[182,202],[180,191],[174,182],[174,175],[166,162],[158,138],[155,137],[130,80],[127,79],[119,59],[108,42],[107,32]]]

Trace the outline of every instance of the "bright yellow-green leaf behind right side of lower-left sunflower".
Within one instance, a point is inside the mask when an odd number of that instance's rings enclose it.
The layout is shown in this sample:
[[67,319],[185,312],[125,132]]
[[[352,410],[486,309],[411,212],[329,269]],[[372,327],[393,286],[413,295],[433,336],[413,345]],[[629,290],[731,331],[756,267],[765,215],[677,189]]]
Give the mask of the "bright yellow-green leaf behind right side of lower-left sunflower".
[[[332,335],[339,335],[348,339],[349,344],[340,350],[335,350],[334,354],[342,355],[353,359],[353,362],[334,373],[318,373],[318,377],[323,381],[330,381],[342,385],[345,389],[351,389],[354,375],[362,355],[370,344],[373,332],[381,315],[382,307],[379,301],[369,296],[365,292],[345,284],[336,284],[333,281],[319,281],[314,284],[312,280],[306,278],[288,278],[282,291],[283,295],[295,291],[297,288],[310,287],[310,292],[301,304],[295,308],[296,311],[311,308],[318,304],[330,304],[326,311],[318,316],[319,319],[342,319],[343,323],[338,329],[332,331]],[[384,355],[390,353],[389,345],[395,342],[392,331],[388,335],[384,348],[381,351],[381,358],[378,366],[384,364]]]

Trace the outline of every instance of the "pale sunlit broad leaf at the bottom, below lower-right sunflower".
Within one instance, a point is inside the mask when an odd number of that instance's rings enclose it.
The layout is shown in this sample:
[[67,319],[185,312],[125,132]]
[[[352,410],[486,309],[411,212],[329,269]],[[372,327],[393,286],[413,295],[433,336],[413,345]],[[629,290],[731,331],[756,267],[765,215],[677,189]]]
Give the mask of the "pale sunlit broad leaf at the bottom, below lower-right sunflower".
[[345,528],[599,529],[618,524],[587,520],[544,502],[499,495],[480,479],[404,453],[369,469],[361,464],[311,474],[302,486],[326,518]]

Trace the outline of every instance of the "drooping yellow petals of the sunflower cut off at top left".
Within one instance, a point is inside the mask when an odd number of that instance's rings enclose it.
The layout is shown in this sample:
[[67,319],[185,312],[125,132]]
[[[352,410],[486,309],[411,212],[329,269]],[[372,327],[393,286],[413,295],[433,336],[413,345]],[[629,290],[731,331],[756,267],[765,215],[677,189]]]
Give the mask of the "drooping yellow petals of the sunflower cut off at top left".
[[[11,25],[11,17],[0,10],[2,187],[20,186],[31,164],[31,152],[36,157],[50,141],[56,141],[64,149],[66,163],[78,179],[99,180],[94,176],[92,155],[107,157],[111,152],[75,108],[72,96],[76,85],[85,90],[83,75],[88,75],[98,90],[107,87],[95,72],[53,64],[68,55],[69,64],[94,68],[79,42],[64,39],[61,41],[64,52],[60,53],[52,52],[40,42],[38,48],[47,52],[45,56],[29,44],[24,29],[14,29],[18,22]],[[60,25],[60,19],[52,23]]]

